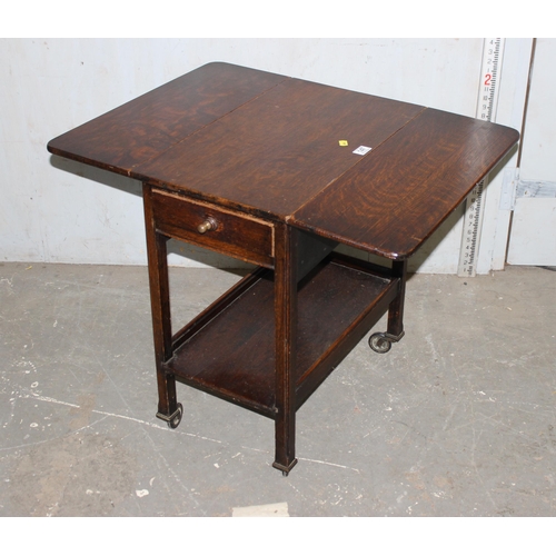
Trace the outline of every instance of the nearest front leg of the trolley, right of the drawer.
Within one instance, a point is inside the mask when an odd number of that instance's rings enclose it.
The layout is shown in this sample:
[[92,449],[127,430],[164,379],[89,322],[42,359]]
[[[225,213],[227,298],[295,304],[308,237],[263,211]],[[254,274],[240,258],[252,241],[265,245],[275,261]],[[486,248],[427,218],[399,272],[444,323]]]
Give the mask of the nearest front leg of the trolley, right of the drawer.
[[297,325],[297,231],[276,227],[276,457],[274,467],[287,475],[297,464],[296,451],[296,325]]

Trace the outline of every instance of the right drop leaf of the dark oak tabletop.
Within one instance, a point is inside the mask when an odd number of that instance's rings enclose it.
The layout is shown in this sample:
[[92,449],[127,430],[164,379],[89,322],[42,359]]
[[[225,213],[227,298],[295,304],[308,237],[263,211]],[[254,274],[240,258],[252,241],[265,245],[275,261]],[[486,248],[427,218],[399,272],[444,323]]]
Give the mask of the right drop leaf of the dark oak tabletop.
[[407,258],[517,139],[510,128],[427,109],[291,222],[376,255]]

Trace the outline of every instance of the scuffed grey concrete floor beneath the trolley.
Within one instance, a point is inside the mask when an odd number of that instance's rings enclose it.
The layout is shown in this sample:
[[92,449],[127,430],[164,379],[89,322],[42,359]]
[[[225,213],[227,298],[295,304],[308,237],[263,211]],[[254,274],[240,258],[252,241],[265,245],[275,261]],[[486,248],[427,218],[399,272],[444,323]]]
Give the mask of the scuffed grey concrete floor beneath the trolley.
[[[171,279],[185,324],[238,272]],[[182,385],[181,425],[155,417],[147,280],[0,264],[0,516],[556,515],[556,272],[413,276],[406,337],[298,411],[288,477],[265,417]]]

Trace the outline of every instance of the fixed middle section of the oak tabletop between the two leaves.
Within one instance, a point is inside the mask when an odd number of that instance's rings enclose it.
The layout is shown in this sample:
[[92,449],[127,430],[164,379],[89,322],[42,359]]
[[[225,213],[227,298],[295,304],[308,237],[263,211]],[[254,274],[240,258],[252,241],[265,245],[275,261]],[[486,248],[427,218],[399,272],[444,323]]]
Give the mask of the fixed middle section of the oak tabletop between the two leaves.
[[[361,161],[423,107],[289,79],[133,176],[207,200],[284,219]],[[348,147],[339,140],[347,139]]]

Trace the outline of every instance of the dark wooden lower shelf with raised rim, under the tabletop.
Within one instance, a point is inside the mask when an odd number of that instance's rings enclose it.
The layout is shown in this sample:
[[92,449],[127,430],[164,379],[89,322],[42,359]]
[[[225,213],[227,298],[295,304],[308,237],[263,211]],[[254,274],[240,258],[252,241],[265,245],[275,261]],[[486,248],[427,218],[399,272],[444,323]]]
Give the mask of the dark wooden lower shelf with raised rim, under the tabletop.
[[[187,339],[166,370],[189,386],[274,417],[272,277],[270,270],[257,270],[225,296],[226,302],[201,314],[189,337],[180,332]],[[296,408],[384,315],[398,290],[397,278],[338,256],[300,282]]]

